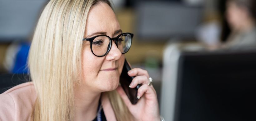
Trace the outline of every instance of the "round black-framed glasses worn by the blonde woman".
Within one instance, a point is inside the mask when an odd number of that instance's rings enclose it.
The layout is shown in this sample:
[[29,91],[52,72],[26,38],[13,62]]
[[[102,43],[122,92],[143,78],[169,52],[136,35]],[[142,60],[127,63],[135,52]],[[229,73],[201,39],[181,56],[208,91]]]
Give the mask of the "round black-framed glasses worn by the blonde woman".
[[95,56],[102,57],[110,51],[112,40],[114,40],[114,43],[122,54],[128,52],[131,47],[132,37],[133,34],[131,33],[122,33],[116,38],[111,38],[107,35],[97,35],[91,38],[83,38],[83,40],[90,42],[91,52]]

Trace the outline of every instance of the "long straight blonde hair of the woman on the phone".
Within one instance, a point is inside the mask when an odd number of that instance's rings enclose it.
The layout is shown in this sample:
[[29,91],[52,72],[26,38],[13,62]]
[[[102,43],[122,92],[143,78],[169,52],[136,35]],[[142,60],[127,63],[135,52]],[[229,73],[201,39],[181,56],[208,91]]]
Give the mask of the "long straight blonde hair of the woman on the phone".
[[[72,121],[74,86],[81,85],[81,50],[88,12],[107,0],[51,0],[38,20],[29,51],[28,66],[37,99],[34,121]],[[119,121],[132,115],[114,90],[107,92]]]

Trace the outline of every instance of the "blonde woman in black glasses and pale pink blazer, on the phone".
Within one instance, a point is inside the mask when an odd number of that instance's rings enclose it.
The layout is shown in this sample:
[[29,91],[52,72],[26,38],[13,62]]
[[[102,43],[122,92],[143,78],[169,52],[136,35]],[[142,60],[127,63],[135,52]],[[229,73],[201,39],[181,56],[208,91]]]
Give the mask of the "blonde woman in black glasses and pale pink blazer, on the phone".
[[0,95],[0,119],[160,120],[147,71],[128,72],[136,76],[131,88],[142,84],[136,105],[118,86],[124,53],[130,48],[122,38],[129,41],[132,35],[122,34],[109,1],[49,1],[29,52],[32,82]]

